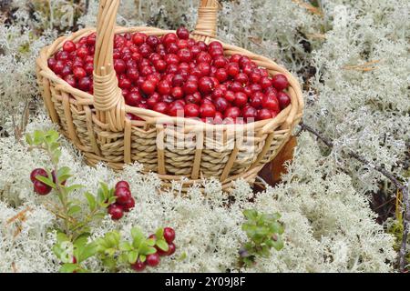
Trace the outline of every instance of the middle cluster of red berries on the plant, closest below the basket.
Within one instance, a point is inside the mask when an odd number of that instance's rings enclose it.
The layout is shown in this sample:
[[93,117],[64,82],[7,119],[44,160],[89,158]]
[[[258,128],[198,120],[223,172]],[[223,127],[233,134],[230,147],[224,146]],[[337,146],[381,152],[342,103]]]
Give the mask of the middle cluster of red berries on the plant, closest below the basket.
[[116,184],[114,195],[117,197],[116,202],[108,206],[108,214],[111,219],[118,220],[135,206],[134,197],[131,196],[129,184],[126,181],[119,181]]

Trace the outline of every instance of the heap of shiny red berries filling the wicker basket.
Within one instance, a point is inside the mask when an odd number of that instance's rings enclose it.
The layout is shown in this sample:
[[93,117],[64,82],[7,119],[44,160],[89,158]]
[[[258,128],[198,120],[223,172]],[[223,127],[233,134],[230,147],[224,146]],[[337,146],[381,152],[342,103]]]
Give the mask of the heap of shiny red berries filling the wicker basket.
[[[48,66],[92,94],[95,44],[96,34],[67,41]],[[219,42],[196,42],[184,27],[161,37],[115,35],[114,68],[127,105],[171,116],[242,123],[272,118],[291,103],[285,75],[271,77],[246,55],[228,57]]]

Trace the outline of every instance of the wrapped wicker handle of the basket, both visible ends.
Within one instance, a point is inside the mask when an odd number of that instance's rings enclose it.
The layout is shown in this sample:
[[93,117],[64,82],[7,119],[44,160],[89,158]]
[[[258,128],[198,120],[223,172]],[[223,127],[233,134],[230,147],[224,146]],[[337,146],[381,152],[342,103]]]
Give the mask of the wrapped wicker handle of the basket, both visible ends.
[[[124,129],[125,103],[113,67],[113,46],[119,0],[100,0],[97,15],[97,41],[94,56],[94,106],[97,119],[113,132]],[[219,3],[200,0],[198,21],[193,32],[197,40],[216,35]]]

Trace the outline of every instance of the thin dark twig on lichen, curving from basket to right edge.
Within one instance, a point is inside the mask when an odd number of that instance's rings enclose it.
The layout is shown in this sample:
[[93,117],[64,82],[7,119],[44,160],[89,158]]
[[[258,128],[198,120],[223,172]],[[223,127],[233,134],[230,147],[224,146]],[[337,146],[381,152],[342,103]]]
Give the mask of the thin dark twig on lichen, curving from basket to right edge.
[[[316,130],[313,129],[313,127],[311,127],[310,125],[306,125],[304,123],[301,123],[301,128],[302,130],[308,131],[310,133],[312,133],[313,135],[316,135],[322,142],[324,145],[329,146],[329,147],[333,147],[333,141],[329,138],[324,137],[322,134],[320,134],[319,132],[317,132]],[[404,204],[404,219],[403,219],[403,238],[402,238],[402,244],[400,246],[400,251],[399,251],[399,257],[398,257],[398,265],[400,268],[401,272],[405,271],[405,249],[406,249],[406,245],[407,245],[407,234],[409,231],[409,222],[410,222],[410,206],[409,206],[409,200],[408,200],[408,184],[402,184],[392,173],[388,172],[386,169],[384,169],[384,167],[382,166],[377,166],[374,165],[374,163],[370,162],[369,160],[367,160],[364,156],[360,156],[359,154],[355,153],[354,151],[348,150],[346,152],[346,154],[348,156],[353,157],[354,159],[356,159],[357,161],[359,161],[360,163],[366,165],[366,166],[370,166],[371,168],[373,168],[375,171],[379,172],[380,174],[382,174],[383,176],[385,176],[387,179],[389,179],[394,185],[395,187],[402,191],[403,193],[403,204]]]

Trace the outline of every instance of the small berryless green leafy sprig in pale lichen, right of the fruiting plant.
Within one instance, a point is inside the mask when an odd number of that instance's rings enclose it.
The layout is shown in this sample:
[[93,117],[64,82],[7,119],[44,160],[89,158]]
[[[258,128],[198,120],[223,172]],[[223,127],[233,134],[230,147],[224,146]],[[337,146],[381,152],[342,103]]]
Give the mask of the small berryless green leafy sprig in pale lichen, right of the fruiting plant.
[[248,209],[243,211],[243,215],[247,220],[242,225],[242,230],[246,232],[249,241],[239,250],[240,264],[252,266],[258,256],[269,257],[272,247],[277,251],[282,249],[284,226],[279,221],[281,215],[278,213],[268,215]]

